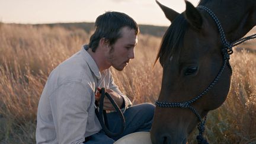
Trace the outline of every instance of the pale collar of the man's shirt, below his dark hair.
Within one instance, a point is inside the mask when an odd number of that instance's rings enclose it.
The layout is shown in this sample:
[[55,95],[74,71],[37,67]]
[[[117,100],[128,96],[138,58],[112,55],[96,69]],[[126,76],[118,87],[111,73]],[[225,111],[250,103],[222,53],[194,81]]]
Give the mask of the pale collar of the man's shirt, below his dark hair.
[[82,57],[85,59],[89,68],[94,73],[94,75],[97,77],[97,79],[101,79],[100,70],[98,69],[98,66],[95,63],[94,59],[92,59],[91,55],[89,55],[89,53],[87,52],[88,49],[89,49],[88,44],[85,44],[84,46],[82,46],[82,49],[81,49]]

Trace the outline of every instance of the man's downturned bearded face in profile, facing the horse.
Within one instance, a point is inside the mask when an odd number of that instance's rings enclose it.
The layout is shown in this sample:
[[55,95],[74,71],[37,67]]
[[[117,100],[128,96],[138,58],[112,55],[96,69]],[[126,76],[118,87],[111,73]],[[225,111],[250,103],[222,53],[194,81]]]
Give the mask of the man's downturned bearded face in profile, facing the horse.
[[134,49],[137,44],[135,30],[128,27],[121,28],[121,38],[117,39],[110,47],[107,59],[118,71],[122,71],[129,63],[130,59],[135,58]]

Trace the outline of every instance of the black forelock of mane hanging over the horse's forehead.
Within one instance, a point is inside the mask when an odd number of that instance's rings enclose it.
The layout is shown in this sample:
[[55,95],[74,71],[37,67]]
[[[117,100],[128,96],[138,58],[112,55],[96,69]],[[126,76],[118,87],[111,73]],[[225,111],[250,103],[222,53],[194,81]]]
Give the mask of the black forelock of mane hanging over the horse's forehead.
[[185,20],[184,14],[180,14],[172,21],[161,42],[155,63],[159,59],[162,64],[163,60],[171,56],[175,50],[183,44],[184,34],[187,30],[188,22]]

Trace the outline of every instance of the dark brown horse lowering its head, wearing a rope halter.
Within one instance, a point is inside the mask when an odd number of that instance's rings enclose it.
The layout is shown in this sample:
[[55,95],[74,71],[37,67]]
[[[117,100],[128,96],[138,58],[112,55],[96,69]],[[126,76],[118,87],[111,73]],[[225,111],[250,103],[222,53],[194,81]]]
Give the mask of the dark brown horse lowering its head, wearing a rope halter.
[[172,24],[157,57],[163,75],[152,143],[186,143],[197,124],[199,143],[207,143],[206,115],[224,103],[231,85],[229,55],[236,43],[228,41],[241,39],[256,25],[256,1],[202,0],[197,8],[185,1],[182,14],[157,3]]

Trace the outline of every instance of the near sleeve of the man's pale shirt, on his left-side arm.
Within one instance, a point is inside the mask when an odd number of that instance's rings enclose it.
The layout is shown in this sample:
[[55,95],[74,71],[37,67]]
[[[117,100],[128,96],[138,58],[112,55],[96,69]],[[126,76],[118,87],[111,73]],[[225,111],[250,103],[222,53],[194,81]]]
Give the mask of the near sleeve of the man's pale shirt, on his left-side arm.
[[50,96],[59,144],[84,142],[90,102],[89,89],[79,82],[63,84]]

